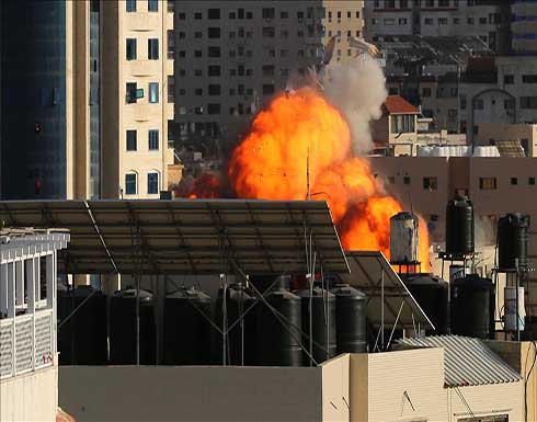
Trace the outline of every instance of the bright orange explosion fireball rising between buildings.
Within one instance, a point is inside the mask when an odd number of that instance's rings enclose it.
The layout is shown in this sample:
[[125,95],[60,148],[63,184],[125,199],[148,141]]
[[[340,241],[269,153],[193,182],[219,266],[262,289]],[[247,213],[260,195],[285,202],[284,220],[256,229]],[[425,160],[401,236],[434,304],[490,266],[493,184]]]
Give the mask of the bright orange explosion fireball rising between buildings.
[[[328,202],[345,250],[380,250],[389,259],[390,217],[401,204],[386,194],[369,162],[352,152],[345,118],[320,92],[277,95],[254,119],[228,167],[238,197]],[[420,221],[420,260],[429,237]]]

